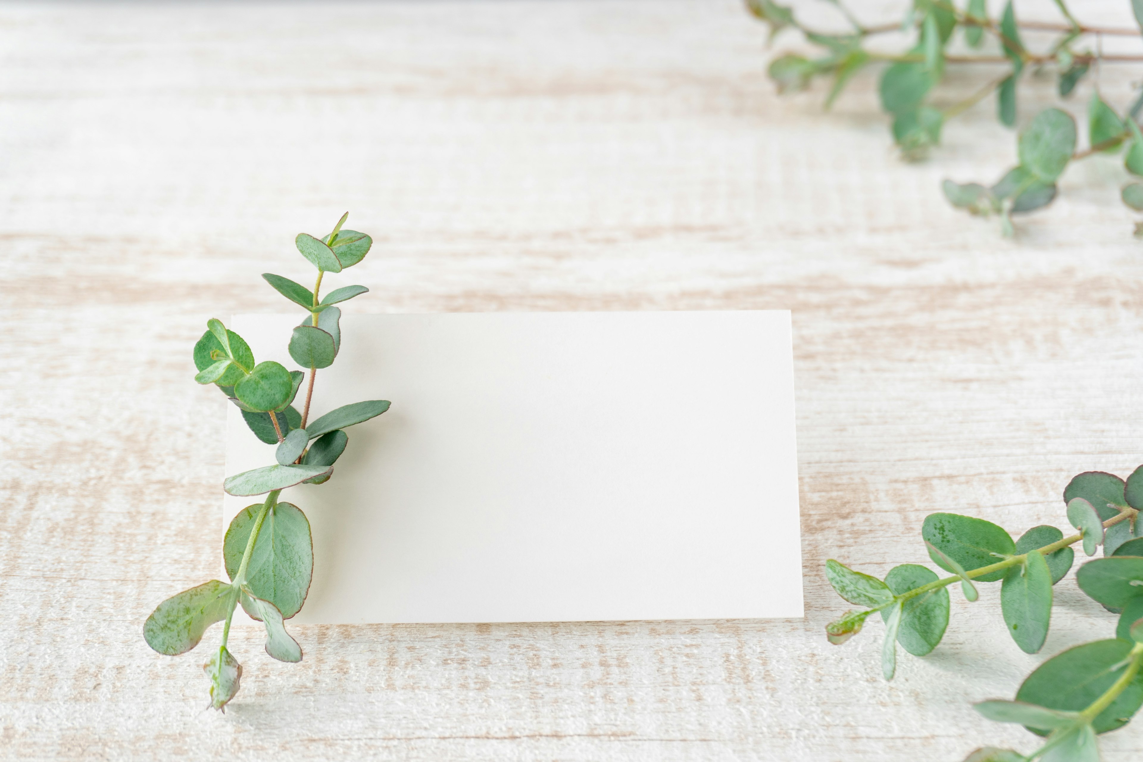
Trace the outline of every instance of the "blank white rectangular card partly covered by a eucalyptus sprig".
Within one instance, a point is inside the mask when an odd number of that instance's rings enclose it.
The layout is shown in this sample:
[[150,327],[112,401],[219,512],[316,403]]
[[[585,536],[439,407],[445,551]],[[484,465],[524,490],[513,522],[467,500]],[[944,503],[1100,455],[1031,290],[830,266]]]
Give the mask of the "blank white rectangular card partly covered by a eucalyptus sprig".
[[[301,318],[233,330],[294,369]],[[281,496],[313,532],[294,621],[802,616],[789,312],[346,314],[310,419],[377,399]],[[227,415],[226,473],[274,463]]]

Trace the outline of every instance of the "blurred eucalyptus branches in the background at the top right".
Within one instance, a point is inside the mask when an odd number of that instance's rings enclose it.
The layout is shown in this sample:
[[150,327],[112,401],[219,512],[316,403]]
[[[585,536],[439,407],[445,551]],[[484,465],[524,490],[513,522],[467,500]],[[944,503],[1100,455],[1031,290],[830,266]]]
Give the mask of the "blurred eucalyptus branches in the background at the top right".
[[[1143,27],[1143,0],[1130,0],[1132,10]],[[846,34],[825,34],[805,26],[793,11],[773,0],[745,0],[746,8],[770,29],[770,39],[786,29],[799,30],[805,39],[822,48],[823,55],[807,58],[785,54],[769,65],[770,79],[780,93],[804,90],[815,78],[832,78],[825,106],[829,109],[850,78],[871,64],[888,64],[881,73],[879,94],[881,107],[892,117],[894,142],[908,159],[926,155],[941,142],[945,122],[967,111],[993,93],[997,118],[1015,127],[1017,86],[1029,69],[1054,66],[1061,98],[1102,64],[1143,62],[1143,56],[1104,55],[1098,45],[1102,35],[1138,37],[1137,29],[1109,29],[1080,23],[1064,0],[1056,0],[1063,23],[1022,22],[1013,0],[1007,0],[998,18],[989,15],[988,0],[967,0],[958,8],[951,0],[913,0],[900,24],[863,25],[841,0],[829,0],[841,9],[853,27]],[[948,51],[954,33],[970,50],[990,46],[991,51],[953,55]],[[912,31],[913,43],[896,54],[885,54],[865,47],[869,38],[892,31]],[[1058,38],[1046,49],[1034,51],[1024,45],[1021,30],[1057,32]],[[1095,48],[1093,49],[1093,41]],[[944,77],[946,65],[1004,64],[1007,73],[982,85],[968,98],[943,109],[929,101],[929,95]],[[1087,106],[1089,145],[1076,150],[1076,121],[1061,109],[1041,111],[1020,136],[1020,162],[998,182],[958,184],[945,181],[945,198],[954,207],[978,216],[996,216],[1005,235],[1014,232],[1012,216],[1040,209],[1056,198],[1056,181],[1072,161],[1101,153],[1117,153],[1127,147],[1124,166],[1128,173],[1143,176],[1143,134],[1136,123],[1143,110],[1143,93],[1121,110],[1110,105],[1096,88]],[[1130,183],[1120,193],[1124,203],[1143,211],[1143,183]],[[1143,222],[1135,226],[1143,236]]]

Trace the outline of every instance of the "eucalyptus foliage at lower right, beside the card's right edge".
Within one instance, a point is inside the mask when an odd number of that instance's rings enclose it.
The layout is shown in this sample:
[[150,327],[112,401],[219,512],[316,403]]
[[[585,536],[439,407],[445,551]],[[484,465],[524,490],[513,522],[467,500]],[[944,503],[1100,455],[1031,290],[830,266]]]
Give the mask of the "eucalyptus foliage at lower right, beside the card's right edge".
[[1064,534],[1050,526],[1032,527],[1014,540],[1004,528],[983,519],[934,513],[925,519],[921,538],[933,562],[952,573],[941,578],[927,567],[905,563],[884,580],[830,559],[825,575],[838,595],[863,607],[847,611],[825,627],[831,643],[841,644],[879,613],[886,624],[881,671],[892,680],[897,645],[914,656],[935,649],[949,625],[950,585],[960,584],[969,601],[977,585],[1000,583],[1000,610],[1013,641],[1025,653],[1044,647],[1052,618],[1053,586],[1074,560],[1072,545],[1102,559],[1088,561],[1076,580],[1088,596],[1118,615],[1116,636],[1077,645],[1041,664],[1016,691],[1015,700],[975,705],[997,722],[1024,725],[1045,741],[1029,754],[984,747],[965,762],[1098,762],[1096,736],[1127,724],[1143,706],[1143,466],[1126,481],[1113,474],[1086,472],[1064,489]]

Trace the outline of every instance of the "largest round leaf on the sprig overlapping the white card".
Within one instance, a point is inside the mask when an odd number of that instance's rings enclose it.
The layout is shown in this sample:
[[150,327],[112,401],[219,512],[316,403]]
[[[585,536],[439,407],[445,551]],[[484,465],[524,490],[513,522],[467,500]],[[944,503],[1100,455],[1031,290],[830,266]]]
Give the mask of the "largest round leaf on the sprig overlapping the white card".
[[[223,540],[223,561],[226,573],[233,579],[242,563],[250,529],[262,511],[262,504],[247,506],[234,516]],[[279,503],[266,514],[258,530],[258,539],[250,552],[246,569],[247,587],[257,597],[270,601],[281,616],[289,619],[302,610],[313,577],[313,542],[310,522],[291,503]],[[246,607],[251,617],[257,611]]]

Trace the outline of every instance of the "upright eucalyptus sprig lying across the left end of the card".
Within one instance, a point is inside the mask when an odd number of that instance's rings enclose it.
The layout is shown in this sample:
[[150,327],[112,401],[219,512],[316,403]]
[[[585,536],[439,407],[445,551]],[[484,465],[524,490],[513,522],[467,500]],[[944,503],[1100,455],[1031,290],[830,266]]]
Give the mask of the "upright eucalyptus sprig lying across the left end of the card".
[[[334,305],[369,289],[344,286],[321,298],[321,279],[361,262],[373,246],[365,233],[342,230],[349,212],[325,238],[301,233],[297,250],[318,270],[313,291],[288,278],[263,273],[279,294],[309,313],[294,328],[289,355],[302,370],[281,363],[255,363],[242,337],[221,320],[207,321],[207,331],[194,345],[199,384],[214,384],[241,411],[261,441],[277,444],[275,464],[227,478],[230,495],[266,495],[241,511],[226,530],[223,561],[230,583],[208,583],[173,595],[155,608],[143,625],[147,644],[159,653],[177,656],[202,640],[210,625],[225,621],[222,643],[202,665],[210,680],[210,706],[223,709],[238,693],[242,665],[227,650],[230,624],[239,603],[266,628],[266,653],[280,661],[301,661],[302,648],[286,632],[285,620],[305,602],[313,576],[310,521],[296,505],[279,502],[282,490],[298,484],[322,484],[334,473],[334,463],[349,442],[345,428],[369,420],[389,409],[387,400],[368,400],[337,408],[310,422],[310,401],[318,370],[334,363],[341,351],[342,312]],[[302,412],[294,408],[305,370],[310,380]]]

